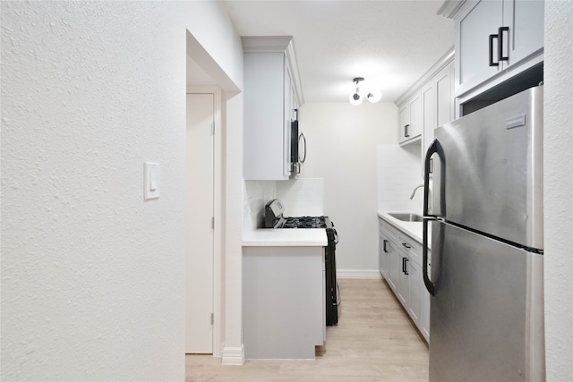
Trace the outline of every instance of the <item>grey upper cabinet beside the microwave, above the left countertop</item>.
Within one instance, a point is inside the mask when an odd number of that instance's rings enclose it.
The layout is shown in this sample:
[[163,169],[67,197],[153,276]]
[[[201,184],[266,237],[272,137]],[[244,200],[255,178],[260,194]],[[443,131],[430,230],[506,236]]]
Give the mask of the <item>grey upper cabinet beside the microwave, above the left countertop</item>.
[[243,47],[244,179],[289,179],[291,122],[302,103],[292,38],[248,37]]

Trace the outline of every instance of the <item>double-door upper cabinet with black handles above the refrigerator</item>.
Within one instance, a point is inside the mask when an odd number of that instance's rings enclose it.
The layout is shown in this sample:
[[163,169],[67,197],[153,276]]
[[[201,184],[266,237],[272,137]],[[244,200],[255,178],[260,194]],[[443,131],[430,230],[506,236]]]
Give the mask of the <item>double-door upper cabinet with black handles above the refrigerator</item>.
[[456,97],[543,61],[543,1],[449,1],[439,13],[456,25]]

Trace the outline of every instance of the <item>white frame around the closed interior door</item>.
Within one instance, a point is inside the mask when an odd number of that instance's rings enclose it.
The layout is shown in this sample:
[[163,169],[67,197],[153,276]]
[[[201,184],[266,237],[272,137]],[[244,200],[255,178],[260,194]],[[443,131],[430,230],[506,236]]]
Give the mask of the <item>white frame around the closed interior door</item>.
[[214,122],[215,134],[213,137],[213,216],[215,217],[215,226],[213,231],[213,357],[222,356],[222,339],[223,332],[221,326],[222,318],[222,243],[221,223],[224,215],[222,211],[222,119],[221,119],[221,89],[217,86],[187,86],[187,94],[212,94],[214,105]]

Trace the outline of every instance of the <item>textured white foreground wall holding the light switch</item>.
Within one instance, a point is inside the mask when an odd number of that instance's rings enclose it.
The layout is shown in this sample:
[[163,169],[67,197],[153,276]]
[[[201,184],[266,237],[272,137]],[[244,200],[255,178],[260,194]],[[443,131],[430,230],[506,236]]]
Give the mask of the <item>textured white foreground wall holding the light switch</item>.
[[240,40],[210,2],[1,7],[0,377],[183,380],[185,29],[239,86]]

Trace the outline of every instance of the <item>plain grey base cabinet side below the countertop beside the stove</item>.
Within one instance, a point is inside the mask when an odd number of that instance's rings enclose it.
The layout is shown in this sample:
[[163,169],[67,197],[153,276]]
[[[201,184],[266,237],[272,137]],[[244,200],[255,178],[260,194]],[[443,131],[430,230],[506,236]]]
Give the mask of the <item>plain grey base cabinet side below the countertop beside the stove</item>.
[[243,247],[246,359],[313,359],[326,339],[324,247]]

